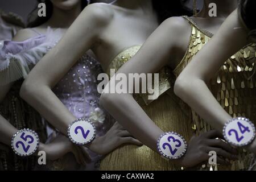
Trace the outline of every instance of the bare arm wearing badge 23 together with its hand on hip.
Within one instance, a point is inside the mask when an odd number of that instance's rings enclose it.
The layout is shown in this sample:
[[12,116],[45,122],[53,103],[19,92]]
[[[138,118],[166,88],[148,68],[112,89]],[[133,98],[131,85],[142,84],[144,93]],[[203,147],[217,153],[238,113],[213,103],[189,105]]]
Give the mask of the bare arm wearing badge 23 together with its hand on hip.
[[[187,48],[190,33],[190,26],[183,18],[176,17],[166,20],[147,39],[138,53],[119,69],[117,74],[124,73],[127,76],[129,73],[155,73],[164,65],[172,65],[169,62],[170,59],[175,60],[176,58],[179,60],[184,55],[181,47]],[[176,52],[179,52],[180,55],[176,55]],[[134,84],[138,83],[135,82]],[[127,88],[131,89],[128,86]],[[103,93],[101,104],[135,138],[141,140],[152,150],[157,151],[156,143],[163,131],[155,125],[130,94]],[[199,137],[192,137],[189,140],[187,154],[183,158],[172,162],[184,167],[196,166],[208,160],[210,150],[218,151],[218,154],[224,156],[224,158],[236,159],[236,156],[232,155],[236,152],[222,140],[216,140],[217,137],[220,137],[217,131],[210,131]],[[218,163],[226,163],[221,158],[217,160]]]

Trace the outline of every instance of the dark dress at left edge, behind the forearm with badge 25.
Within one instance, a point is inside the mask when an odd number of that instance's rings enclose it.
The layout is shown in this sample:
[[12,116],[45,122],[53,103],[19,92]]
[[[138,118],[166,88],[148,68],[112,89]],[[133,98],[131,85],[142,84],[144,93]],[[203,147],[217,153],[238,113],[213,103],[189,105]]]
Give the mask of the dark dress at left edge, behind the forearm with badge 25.
[[[0,114],[17,129],[29,128],[38,133],[40,142],[47,138],[46,125],[42,117],[19,96],[22,80],[16,81],[0,104]],[[0,143],[0,146],[5,146]],[[36,156],[22,158],[14,154],[9,146],[0,147],[0,171],[33,170],[37,163]]]

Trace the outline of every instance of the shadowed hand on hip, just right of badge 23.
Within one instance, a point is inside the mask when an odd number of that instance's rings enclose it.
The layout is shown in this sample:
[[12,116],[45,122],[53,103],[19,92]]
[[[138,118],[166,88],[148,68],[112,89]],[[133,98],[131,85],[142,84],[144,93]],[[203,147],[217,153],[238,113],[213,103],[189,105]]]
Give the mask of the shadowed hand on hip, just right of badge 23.
[[193,167],[203,162],[208,162],[209,152],[216,151],[217,163],[229,164],[225,159],[237,160],[237,150],[221,139],[222,135],[217,130],[192,137],[188,143],[186,154],[179,160],[173,160],[182,167]]

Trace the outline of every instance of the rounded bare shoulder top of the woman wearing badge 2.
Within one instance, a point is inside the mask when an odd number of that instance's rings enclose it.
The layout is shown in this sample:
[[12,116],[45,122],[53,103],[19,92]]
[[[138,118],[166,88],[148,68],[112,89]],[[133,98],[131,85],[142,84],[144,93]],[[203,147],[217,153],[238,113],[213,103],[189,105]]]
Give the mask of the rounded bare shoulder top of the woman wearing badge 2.
[[93,3],[82,11],[83,18],[90,18],[94,22],[109,23],[113,18],[113,8],[106,3]]

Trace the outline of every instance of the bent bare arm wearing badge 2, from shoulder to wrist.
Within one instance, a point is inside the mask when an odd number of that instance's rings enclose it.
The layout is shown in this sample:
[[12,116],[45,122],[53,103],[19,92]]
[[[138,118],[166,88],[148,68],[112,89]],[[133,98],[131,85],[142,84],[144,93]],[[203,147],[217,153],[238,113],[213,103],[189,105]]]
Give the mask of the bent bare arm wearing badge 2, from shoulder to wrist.
[[51,89],[93,46],[106,25],[102,14],[98,9],[86,7],[59,44],[32,69],[20,90],[20,96],[64,135],[67,135],[69,123],[76,118]]

